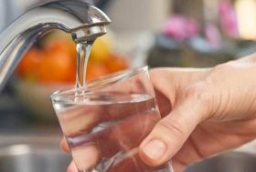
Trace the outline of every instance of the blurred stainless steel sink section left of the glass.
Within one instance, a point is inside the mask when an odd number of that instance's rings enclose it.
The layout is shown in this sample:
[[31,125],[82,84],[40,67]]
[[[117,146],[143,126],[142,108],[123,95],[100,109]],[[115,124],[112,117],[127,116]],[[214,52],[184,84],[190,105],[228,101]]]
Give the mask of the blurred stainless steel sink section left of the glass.
[[[0,139],[1,140],[1,139]],[[8,143],[6,140],[9,140]],[[71,157],[59,149],[59,139],[22,137],[0,143],[0,171],[64,172]],[[24,141],[26,140],[26,141]],[[22,143],[22,144],[21,144]]]

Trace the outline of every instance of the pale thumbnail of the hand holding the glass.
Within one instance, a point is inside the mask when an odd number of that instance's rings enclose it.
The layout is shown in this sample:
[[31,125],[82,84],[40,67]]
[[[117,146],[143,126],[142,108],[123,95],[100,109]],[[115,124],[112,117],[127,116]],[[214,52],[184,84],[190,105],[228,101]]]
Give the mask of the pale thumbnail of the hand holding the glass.
[[151,159],[158,159],[163,157],[165,150],[166,147],[164,142],[158,139],[148,142],[143,148],[144,154]]

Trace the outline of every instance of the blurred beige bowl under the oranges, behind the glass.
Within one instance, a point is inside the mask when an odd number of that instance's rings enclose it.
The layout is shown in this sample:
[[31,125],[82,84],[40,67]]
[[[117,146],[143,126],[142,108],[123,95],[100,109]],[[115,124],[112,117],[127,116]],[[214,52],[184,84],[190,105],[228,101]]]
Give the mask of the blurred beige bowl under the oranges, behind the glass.
[[58,123],[58,120],[49,96],[56,90],[70,87],[72,85],[35,84],[19,80],[16,83],[15,90],[18,100],[26,108],[29,116],[36,121],[55,124]]

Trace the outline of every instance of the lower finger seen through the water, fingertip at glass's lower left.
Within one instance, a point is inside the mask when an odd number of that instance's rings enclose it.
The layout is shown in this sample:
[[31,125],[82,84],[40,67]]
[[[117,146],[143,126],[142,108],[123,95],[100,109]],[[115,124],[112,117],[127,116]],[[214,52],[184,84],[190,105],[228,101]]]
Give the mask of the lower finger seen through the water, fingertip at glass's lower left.
[[86,136],[69,138],[74,161],[80,170],[95,167],[102,158],[109,159],[118,152],[129,153],[138,147],[146,137],[160,115],[155,112],[126,117],[112,126],[95,128],[95,132]]

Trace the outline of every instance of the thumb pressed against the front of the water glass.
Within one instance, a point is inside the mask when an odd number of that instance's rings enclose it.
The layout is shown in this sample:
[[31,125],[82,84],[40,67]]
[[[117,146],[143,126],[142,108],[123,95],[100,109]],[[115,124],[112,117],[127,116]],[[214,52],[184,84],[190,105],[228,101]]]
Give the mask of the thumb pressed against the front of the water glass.
[[140,145],[139,154],[144,162],[155,167],[170,160],[208,114],[207,102],[200,92],[189,91],[181,96],[172,112],[156,124]]

